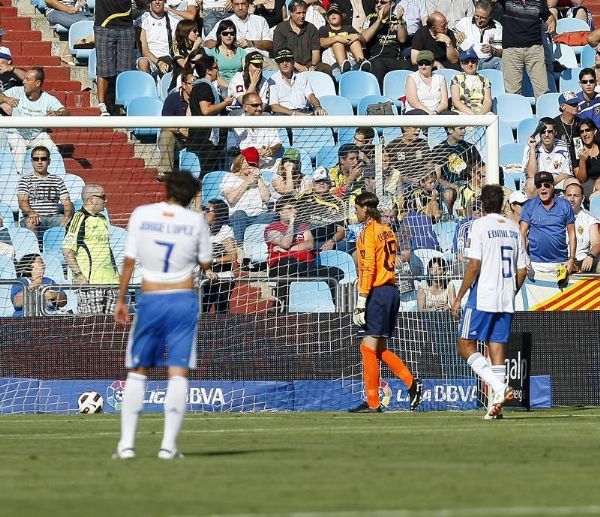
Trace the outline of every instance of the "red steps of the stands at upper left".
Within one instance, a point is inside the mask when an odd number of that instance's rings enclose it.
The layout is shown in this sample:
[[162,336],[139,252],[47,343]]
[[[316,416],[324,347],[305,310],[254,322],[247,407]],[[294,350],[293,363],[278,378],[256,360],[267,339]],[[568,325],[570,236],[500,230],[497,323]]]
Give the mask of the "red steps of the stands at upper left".
[[[81,82],[71,80],[71,67],[52,55],[52,43],[42,41],[40,31],[31,30],[31,19],[17,14],[11,0],[0,0],[2,44],[11,49],[13,63],[22,68],[44,67],[44,90],[55,95],[72,115],[98,116],[98,108],[91,106],[91,92],[82,91]],[[124,226],[136,206],[162,199],[163,187],[155,180],[156,169],[146,168],[144,160],[135,157],[126,133],[57,129],[52,131],[52,139],[61,151],[67,172],[104,187],[113,224]]]

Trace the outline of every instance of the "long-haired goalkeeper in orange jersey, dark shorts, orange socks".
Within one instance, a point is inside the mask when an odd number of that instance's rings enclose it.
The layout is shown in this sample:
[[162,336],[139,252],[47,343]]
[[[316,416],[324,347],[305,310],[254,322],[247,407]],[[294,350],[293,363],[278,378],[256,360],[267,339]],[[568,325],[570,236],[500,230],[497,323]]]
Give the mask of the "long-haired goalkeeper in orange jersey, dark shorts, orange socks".
[[408,387],[410,409],[421,401],[423,383],[394,352],[388,350],[387,338],[392,337],[398,318],[400,294],[396,286],[396,250],[394,231],[381,223],[377,209],[379,200],[372,192],[363,192],[354,201],[356,215],[365,228],[357,242],[358,300],[352,320],[362,338],[360,352],[367,401],[351,409],[351,413],[380,413],[379,361],[388,365]]

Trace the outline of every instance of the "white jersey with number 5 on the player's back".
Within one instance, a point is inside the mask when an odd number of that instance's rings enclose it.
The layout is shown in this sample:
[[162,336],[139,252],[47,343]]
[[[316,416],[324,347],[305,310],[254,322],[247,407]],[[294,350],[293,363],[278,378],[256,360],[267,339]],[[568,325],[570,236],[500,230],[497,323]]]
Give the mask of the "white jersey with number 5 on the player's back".
[[473,221],[467,257],[481,270],[466,306],[485,312],[515,312],[517,269],[526,267],[525,248],[516,223],[500,214]]

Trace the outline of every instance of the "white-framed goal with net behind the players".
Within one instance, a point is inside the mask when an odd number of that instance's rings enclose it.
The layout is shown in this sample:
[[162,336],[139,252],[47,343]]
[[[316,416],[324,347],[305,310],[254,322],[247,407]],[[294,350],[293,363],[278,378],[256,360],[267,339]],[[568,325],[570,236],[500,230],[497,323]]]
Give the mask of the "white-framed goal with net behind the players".
[[[121,266],[132,210],[162,200],[162,180],[180,173],[202,181],[191,208],[210,224],[217,274],[196,275],[191,411],[360,402],[351,311],[362,231],[354,198],[365,190],[398,236],[401,307],[388,346],[424,381],[421,408],[485,404],[448,309],[481,184],[498,182],[495,116],[44,117],[36,128],[5,117],[0,126],[0,412],[76,411],[91,390],[119,410],[129,328],[112,319],[112,264]],[[49,161],[24,144],[36,137]],[[136,270],[132,316],[140,282]],[[162,409],[164,373],[151,377],[150,410]],[[385,366],[381,374],[383,405],[407,410],[406,386]]]

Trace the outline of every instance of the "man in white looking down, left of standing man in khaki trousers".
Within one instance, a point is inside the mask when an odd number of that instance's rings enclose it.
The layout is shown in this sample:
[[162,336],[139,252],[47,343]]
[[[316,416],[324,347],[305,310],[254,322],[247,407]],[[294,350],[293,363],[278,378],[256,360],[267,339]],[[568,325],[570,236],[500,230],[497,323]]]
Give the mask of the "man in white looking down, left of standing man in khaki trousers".
[[[478,0],[475,14],[456,23],[459,50],[473,50],[479,58],[478,68],[502,69],[502,25],[492,19],[490,0]],[[464,68],[463,68],[464,70]]]

